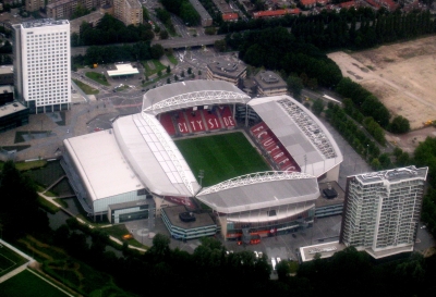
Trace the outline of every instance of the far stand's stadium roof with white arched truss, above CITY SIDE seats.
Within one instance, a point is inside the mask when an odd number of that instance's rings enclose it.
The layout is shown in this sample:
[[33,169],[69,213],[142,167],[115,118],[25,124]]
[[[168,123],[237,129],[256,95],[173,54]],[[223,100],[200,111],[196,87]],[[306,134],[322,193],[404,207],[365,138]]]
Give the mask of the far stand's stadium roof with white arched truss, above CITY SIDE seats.
[[143,112],[162,112],[195,106],[246,103],[250,96],[221,81],[190,81],[150,89],[144,95]]

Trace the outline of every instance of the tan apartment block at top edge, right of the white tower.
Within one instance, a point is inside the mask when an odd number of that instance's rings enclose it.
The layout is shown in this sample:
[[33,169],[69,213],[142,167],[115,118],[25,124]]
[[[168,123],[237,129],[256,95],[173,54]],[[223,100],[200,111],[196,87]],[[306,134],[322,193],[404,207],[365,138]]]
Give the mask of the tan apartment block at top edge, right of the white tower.
[[143,23],[143,8],[138,0],[113,0],[113,16],[126,26]]

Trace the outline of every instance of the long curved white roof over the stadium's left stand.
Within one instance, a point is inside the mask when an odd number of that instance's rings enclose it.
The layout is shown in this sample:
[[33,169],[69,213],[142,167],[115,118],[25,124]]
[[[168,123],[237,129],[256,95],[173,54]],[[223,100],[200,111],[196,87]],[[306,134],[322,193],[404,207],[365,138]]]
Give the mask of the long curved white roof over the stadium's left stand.
[[192,197],[198,191],[190,166],[154,115],[136,113],[120,117],[113,129],[130,165],[152,193]]

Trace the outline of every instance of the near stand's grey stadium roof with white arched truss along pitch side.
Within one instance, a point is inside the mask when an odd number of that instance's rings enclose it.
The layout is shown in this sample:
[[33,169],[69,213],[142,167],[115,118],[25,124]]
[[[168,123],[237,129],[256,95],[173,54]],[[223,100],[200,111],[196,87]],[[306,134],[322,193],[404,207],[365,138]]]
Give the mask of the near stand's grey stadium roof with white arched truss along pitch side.
[[315,202],[319,188],[315,176],[299,172],[263,172],[239,176],[204,188],[198,200],[222,213]]

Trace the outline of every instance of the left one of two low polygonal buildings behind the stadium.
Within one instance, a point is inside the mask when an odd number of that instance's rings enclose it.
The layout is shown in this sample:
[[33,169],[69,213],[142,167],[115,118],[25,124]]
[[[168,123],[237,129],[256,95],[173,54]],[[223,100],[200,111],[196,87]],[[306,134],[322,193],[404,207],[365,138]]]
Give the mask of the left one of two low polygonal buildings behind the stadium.
[[238,86],[246,77],[246,66],[240,62],[218,60],[207,64],[208,81],[225,81]]

